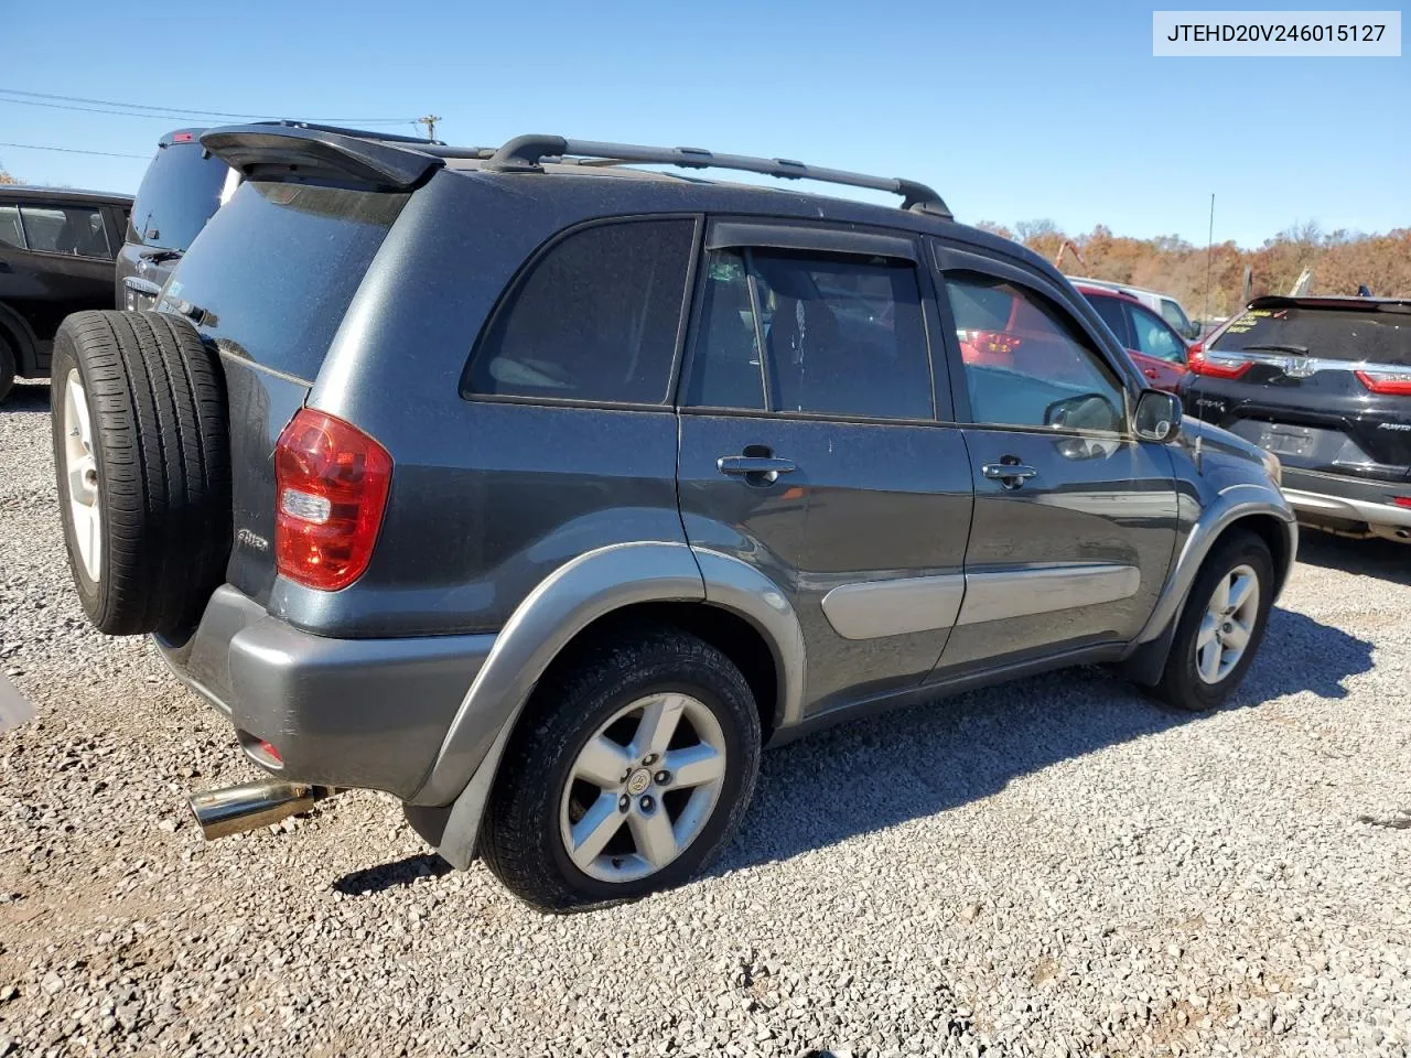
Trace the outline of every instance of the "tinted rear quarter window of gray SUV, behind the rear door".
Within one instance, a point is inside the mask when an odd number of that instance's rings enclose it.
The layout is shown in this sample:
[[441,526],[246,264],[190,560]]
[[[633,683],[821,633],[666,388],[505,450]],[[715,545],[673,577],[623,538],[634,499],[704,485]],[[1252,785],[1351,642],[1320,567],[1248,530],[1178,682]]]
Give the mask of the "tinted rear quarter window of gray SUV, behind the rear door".
[[467,391],[665,403],[694,236],[694,220],[632,220],[550,245],[495,310]]

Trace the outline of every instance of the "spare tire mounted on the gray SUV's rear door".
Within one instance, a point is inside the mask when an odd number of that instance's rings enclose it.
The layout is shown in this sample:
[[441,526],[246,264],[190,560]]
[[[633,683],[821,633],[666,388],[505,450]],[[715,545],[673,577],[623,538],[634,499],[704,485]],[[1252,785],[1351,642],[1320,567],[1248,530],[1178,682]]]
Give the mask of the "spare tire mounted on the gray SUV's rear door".
[[63,543],[100,632],[179,632],[230,557],[230,433],[219,358],[179,316],[79,312],[54,340]]

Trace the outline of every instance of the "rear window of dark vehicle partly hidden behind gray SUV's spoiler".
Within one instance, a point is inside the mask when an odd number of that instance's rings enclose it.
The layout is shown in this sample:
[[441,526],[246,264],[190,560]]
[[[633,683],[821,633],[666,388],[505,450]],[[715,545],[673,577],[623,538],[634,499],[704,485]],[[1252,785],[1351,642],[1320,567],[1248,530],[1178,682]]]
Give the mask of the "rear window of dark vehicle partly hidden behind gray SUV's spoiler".
[[200,144],[159,147],[137,189],[128,241],[185,250],[220,206],[230,166]]

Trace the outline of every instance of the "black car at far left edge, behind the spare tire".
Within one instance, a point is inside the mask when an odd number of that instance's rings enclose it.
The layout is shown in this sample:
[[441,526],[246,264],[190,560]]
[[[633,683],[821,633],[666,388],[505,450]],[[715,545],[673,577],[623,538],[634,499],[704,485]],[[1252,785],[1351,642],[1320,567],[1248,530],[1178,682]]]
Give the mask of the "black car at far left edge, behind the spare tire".
[[133,199],[0,186],[0,401],[16,375],[42,378],[71,312],[113,308],[113,251]]

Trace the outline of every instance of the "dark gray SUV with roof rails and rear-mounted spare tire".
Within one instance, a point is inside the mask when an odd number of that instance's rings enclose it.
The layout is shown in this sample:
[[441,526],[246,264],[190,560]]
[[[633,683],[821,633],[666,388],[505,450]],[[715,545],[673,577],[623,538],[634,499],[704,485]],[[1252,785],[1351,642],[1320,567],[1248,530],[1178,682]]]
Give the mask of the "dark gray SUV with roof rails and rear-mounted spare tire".
[[[1050,265],[909,181],[521,137],[213,130],[158,312],[55,353],[75,584],[270,783],[385,790],[571,908],[679,883],[761,748],[1077,663],[1202,710],[1292,561],[1278,464],[1181,423]],[[631,168],[745,169],[893,209]]]

